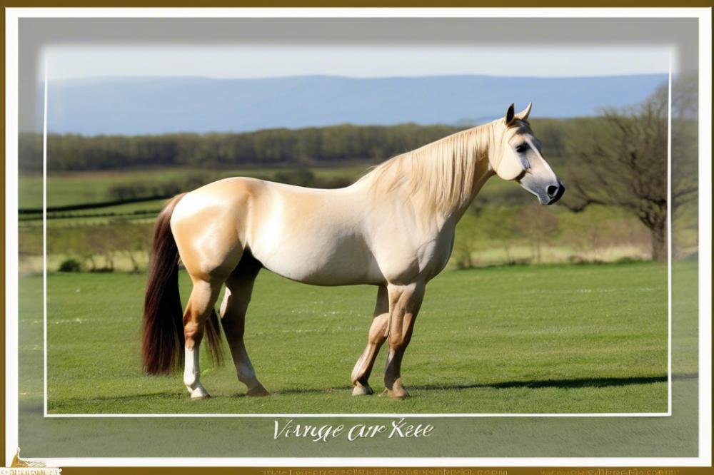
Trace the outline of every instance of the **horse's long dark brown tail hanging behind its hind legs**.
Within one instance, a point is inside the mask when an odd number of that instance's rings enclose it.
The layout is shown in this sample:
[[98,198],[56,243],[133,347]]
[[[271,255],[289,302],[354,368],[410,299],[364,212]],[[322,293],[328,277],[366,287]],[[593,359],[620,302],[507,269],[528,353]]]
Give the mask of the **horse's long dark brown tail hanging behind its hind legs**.
[[[171,214],[185,194],[169,201],[154,227],[141,343],[142,363],[147,374],[169,374],[183,366],[183,309],[178,295],[178,247],[171,233]],[[213,361],[220,364],[221,330],[215,310],[206,321],[206,337]]]

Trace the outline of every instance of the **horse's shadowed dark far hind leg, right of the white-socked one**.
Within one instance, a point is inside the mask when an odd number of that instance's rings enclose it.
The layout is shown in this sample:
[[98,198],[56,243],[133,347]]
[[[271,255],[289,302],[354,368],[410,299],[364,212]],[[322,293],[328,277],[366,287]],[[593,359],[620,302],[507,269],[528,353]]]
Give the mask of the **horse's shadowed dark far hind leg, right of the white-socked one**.
[[248,396],[268,395],[268,391],[256,378],[256,372],[243,341],[243,334],[246,331],[246,311],[251,302],[253,282],[260,270],[261,263],[246,252],[236,270],[226,280],[226,295],[221,304],[223,332],[228,339],[228,347],[231,348],[238,380],[248,387],[246,392]]

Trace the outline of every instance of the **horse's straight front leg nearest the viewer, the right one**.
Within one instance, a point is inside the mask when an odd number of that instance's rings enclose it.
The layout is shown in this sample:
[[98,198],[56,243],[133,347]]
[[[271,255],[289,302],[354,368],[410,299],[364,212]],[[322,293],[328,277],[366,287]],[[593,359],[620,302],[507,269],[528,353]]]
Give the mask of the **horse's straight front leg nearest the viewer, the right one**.
[[384,386],[388,397],[401,399],[409,394],[401,383],[401,361],[404,356],[414,321],[424,298],[425,284],[389,285],[389,354],[384,370]]

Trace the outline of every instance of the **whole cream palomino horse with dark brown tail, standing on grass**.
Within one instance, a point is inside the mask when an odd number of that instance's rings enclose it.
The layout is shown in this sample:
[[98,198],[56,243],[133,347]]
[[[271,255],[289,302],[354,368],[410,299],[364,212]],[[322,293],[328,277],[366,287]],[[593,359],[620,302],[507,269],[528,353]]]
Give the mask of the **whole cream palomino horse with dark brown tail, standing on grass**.
[[[391,158],[347,188],[227,178],[176,196],[154,232],[144,307],[146,372],[176,369],[183,346],[183,383],[191,398],[208,397],[199,382],[198,347],[205,332],[211,348],[220,349],[213,306],[225,284],[221,318],[238,379],[248,395],[268,394],[243,343],[253,281],[266,267],[312,285],[376,285],[352,394],[373,392],[369,374],[388,341],[386,392],[405,397],[401,360],[426,283],[446,266],[456,223],[486,180],[515,180],[544,205],[563,195],[528,126],[530,111],[528,104],[516,114],[511,104],[505,118]],[[183,317],[179,257],[193,281]]]

